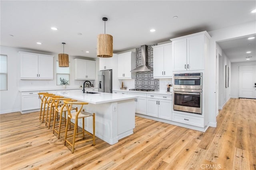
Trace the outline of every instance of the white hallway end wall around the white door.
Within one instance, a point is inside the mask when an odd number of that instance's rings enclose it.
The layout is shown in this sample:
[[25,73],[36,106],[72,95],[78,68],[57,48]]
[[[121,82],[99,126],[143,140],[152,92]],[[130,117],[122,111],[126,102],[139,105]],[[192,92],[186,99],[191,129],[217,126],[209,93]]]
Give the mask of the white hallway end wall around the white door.
[[256,64],[256,61],[231,63],[231,96],[230,98],[238,98],[238,66]]

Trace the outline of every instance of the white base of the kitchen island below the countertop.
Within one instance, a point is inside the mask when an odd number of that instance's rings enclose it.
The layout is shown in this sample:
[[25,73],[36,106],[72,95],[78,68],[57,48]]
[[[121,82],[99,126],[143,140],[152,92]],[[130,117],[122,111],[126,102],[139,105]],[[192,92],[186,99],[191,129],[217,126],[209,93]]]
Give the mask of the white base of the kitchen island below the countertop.
[[[104,104],[84,105],[84,110],[95,113],[95,135],[103,141],[114,145],[133,133],[135,128],[134,99]],[[82,127],[82,119],[78,120]],[[92,117],[85,119],[86,131],[92,133]]]

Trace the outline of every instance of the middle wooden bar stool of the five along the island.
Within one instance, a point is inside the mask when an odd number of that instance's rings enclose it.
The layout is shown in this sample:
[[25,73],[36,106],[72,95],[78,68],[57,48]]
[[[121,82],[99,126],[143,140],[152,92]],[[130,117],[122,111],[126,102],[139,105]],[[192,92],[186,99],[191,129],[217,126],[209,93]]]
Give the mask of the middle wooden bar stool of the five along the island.
[[[48,96],[49,97],[49,96]],[[54,102],[53,102],[53,98],[64,98],[63,96],[56,96],[56,95],[50,95],[50,98],[48,98],[46,100],[47,103],[47,113],[46,113],[46,120],[45,120],[45,125],[48,124],[48,129],[50,129],[50,124],[51,124],[51,118],[54,118]],[[57,106],[62,106],[64,103],[60,103]],[[50,108],[50,113],[48,113]],[[49,120],[48,120],[48,116],[49,116]]]

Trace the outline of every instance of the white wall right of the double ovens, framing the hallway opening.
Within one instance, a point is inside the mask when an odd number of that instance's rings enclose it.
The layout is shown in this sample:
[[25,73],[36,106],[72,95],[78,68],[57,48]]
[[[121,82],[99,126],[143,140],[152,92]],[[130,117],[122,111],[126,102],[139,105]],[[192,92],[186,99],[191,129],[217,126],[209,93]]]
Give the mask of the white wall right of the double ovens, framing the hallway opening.
[[[216,59],[216,42],[224,41],[228,39],[235,39],[237,37],[243,37],[256,33],[256,21],[243,23],[240,25],[234,25],[214,31],[208,32],[212,37],[210,39],[210,58],[209,58],[209,125],[212,127],[217,126],[216,115],[218,113],[218,70],[216,70],[218,64],[218,57]],[[216,102],[212,102],[216,101]]]

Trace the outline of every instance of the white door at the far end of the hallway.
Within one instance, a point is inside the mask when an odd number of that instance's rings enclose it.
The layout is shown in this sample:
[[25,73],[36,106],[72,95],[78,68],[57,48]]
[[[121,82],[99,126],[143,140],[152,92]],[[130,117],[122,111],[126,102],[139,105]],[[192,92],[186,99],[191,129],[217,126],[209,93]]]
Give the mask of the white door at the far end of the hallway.
[[239,98],[255,99],[256,65],[239,66]]

